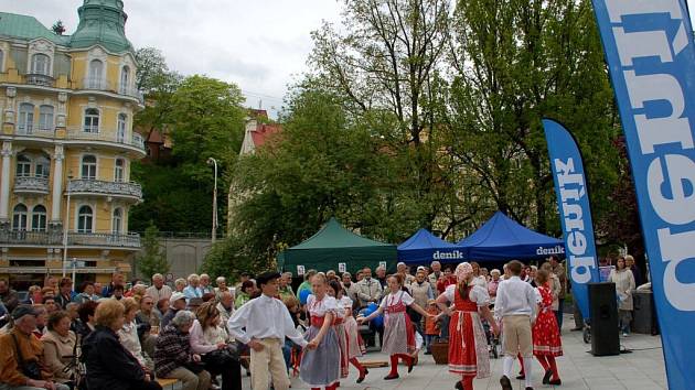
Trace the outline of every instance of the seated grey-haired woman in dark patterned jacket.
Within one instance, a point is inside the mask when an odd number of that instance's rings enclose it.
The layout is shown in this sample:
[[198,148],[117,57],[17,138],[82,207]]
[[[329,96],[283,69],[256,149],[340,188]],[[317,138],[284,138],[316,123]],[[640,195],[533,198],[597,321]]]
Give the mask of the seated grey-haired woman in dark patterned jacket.
[[182,390],[207,390],[210,373],[201,362],[201,356],[191,348],[189,331],[195,316],[179,311],[157,337],[154,372],[158,378],[174,378],[182,382]]

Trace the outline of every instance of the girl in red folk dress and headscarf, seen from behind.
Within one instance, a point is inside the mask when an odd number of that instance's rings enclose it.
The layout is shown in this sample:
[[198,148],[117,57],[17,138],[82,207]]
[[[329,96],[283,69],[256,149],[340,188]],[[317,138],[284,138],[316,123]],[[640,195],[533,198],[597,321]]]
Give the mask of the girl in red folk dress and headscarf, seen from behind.
[[[462,378],[456,382],[456,389],[472,390],[473,378],[490,377],[490,355],[488,342],[480,317],[492,325],[492,332],[500,333],[496,322],[488,307],[488,290],[473,284],[473,268],[462,262],[456,268],[457,283],[449,285],[437,297],[442,314],[451,316],[449,323],[449,372]],[[451,307],[447,303],[453,303]],[[440,314],[440,316],[442,315]]]

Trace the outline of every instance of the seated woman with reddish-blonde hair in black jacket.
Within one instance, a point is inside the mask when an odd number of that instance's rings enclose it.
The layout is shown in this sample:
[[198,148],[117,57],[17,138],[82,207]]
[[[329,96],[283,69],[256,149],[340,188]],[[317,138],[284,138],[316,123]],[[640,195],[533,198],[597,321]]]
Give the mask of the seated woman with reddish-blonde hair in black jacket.
[[116,332],[124,326],[124,305],[116,300],[99,302],[96,308],[96,327],[82,346],[82,361],[87,371],[89,390],[161,390],[127,351]]

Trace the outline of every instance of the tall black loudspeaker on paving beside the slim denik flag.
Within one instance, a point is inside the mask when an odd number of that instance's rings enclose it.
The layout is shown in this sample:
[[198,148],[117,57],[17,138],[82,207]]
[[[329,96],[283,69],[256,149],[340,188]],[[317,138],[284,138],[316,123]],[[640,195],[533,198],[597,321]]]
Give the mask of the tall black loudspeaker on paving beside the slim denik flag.
[[616,283],[589,283],[591,355],[620,355]]

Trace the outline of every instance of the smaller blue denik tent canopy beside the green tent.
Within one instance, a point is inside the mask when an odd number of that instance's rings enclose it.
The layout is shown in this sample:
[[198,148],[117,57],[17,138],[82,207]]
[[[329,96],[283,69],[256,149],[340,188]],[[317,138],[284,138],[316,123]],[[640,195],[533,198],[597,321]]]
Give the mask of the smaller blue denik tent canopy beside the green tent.
[[463,251],[458,246],[442,240],[427,229],[419,229],[398,246],[398,260],[406,263],[423,263],[434,260],[459,262],[463,260]]

